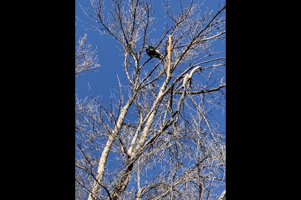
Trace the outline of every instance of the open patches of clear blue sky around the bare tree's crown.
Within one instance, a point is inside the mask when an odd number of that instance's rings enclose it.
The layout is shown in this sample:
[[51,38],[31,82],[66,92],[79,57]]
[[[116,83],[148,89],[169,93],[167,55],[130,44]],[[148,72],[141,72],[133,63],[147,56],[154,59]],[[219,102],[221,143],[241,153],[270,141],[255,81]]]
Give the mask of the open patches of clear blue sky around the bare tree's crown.
[[[107,1],[109,2],[109,1]],[[155,31],[151,33],[151,39],[161,39],[161,32],[165,23],[165,14],[163,10],[163,6],[161,4],[162,1],[155,1],[153,7],[155,10],[156,18],[160,18],[160,22],[153,26]],[[85,4],[90,5],[90,1],[75,1],[75,15],[78,19],[82,21],[89,22],[87,16],[83,13],[82,8],[85,7]],[[220,6],[222,6],[223,2],[218,0],[210,0],[203,3],[202,12],[209,8],[209,10],[218,11]],[[178,3],[177,1],[172,1],[172,9],[177,9]],[[90,28],[87,24],[80,22],[78,19],[75,19],[77,25],[75,28],[75,45],[77,46],[78,39],[83,36],[85,33],[87,34],[87,41],[92,44],[92,49],[97,47],[97,55],[99,58],[99,67],[98,72],[88,72],[85,73],[83,78],[76,78],[75,88],[77,89],[78,98],[84,98],[89,96],[89,86],[92,88],[93,96],[102,96],[103,103],[107,106],[109,105],[109,97],[112,93],[116,93],[115,90],[119,90],[118,78],[122,85],[128,85],[128,80],[124,73],[124,68],[122,63],[124,62],[124,57],[121,56],[121,52],[116,48],[120,47],[120,44],[109,35],[100,35],[98,31],[88,30],[85,27]],[[93,24],[95,25],[95,24]],[[85,27],[83,27],[85,26]],[[149,43],[150,44],[150,41]],[[225,50],[225,44],[222,41],[218,41],[214,43],[214,51]],[[148,59],[149,57],[146,55],[143,58],[143,61]],[[149,70],[150,65],[145,66],[145,70]],[[118,77],[117,77],[118,76]],[[216,118],[218,118],[218,122],[220,123],[220,131],[225,132],[225,117],[222,116],[223,112],[220,110],[220,113],[214,113]],[[221,115],[221,116],[219,116]]]

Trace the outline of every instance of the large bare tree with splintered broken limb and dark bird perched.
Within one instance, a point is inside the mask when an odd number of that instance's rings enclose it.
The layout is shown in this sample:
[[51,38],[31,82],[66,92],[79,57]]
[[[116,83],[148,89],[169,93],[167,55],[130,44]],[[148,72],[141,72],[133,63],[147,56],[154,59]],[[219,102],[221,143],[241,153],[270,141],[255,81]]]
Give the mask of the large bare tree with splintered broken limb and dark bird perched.
[[213,13],[184,2],[177,12],[163,4],[168,23],[151,42],[160,60],[145,53],[158,22],[153,1],[83,8],[85,23],[120,43],[129,85],[119,83],[109,108],[76,99],[76,199],[225,198],[225,133],[213,115],[225,110],[225,53],[210,46],[225,41],[226,5]]

